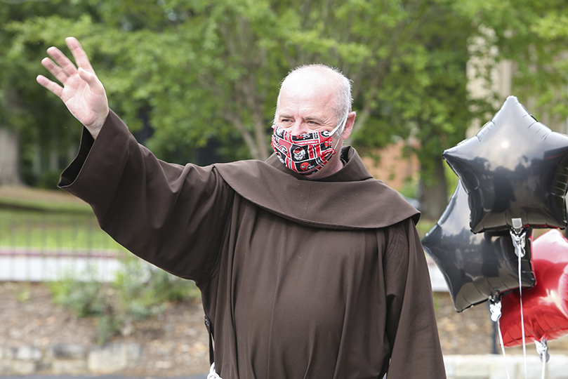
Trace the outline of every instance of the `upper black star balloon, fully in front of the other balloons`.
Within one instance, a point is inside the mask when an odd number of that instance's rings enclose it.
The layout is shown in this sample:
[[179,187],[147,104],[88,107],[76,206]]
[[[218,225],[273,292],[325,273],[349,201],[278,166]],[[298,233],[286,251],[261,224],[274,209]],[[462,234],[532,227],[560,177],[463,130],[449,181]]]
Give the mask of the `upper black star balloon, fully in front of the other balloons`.
[[468,192],[470,228],[565,227],[568,136],[536,121],[514,96],[472,138],[442,154]]

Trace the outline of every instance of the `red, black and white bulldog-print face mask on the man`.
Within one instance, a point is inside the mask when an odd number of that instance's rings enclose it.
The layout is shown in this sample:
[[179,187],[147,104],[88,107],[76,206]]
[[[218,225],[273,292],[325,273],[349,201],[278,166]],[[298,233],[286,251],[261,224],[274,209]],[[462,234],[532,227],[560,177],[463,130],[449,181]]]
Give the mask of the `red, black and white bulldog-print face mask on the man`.
[[332,146],[333,134],[343,124],[345,123],[338,124],[333,131],[300,135],[292,135],[289,131],[273,125],[272,149],[282,164],[292,171],[304,175],[315,173],[336,154],[339,139],[336,145]]

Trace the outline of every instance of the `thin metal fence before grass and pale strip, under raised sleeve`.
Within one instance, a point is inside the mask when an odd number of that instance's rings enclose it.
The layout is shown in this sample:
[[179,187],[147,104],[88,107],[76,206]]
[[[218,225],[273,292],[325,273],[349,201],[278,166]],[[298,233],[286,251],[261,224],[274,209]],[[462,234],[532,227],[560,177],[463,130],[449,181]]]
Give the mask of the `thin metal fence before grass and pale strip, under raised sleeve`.
[[111,281],[125,255],[93,220],[2,220],[0,281]]

